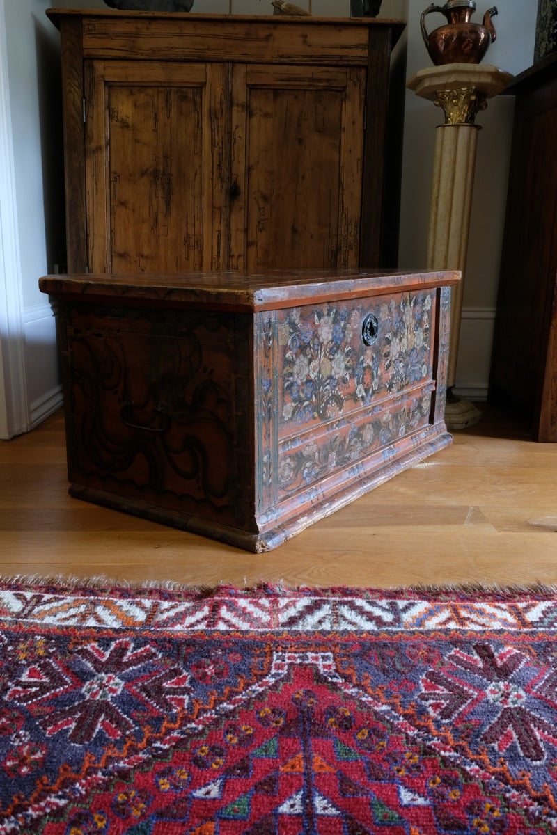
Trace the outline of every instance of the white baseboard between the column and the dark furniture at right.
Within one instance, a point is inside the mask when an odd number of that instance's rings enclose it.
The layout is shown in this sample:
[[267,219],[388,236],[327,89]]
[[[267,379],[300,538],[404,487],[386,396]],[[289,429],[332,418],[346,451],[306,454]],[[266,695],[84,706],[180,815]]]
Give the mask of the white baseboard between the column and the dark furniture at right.
[[454,393],[485,402],[494,341],[494,307],[463,307]]

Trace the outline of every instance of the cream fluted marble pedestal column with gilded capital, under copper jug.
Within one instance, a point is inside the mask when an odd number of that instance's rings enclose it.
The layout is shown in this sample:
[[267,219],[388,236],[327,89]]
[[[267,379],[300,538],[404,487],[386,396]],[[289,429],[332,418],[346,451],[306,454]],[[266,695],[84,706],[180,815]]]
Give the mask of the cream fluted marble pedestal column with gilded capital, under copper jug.
[[471,402],[453,394],[479,131],[474,120],[479,110],[487,107],[486,99],[501,93],[512,79],[497,67],[448,63],[422,69],[407,83],[418,96],[442,107],[445,114],[445,124],[436,130],[428,269],[460,270],[463,276],[451,300],[445,423],[453,429],[471,426],[481,417]]

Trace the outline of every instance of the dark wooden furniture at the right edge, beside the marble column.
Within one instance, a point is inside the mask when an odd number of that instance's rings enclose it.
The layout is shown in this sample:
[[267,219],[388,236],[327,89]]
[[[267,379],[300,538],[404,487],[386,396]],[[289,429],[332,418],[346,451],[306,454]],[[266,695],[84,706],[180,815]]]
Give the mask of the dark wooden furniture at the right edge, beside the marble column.
[[489,397],[557,441],[557,54],[505,92],[516,103]]

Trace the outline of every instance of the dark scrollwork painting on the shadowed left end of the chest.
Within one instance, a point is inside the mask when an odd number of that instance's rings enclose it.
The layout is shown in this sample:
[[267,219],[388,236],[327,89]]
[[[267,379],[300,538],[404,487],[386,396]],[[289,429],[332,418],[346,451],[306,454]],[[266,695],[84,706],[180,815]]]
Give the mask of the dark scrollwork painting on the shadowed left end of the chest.
[[68,334],[78,468],[139,496],[233,506],[225,323],[169,315],[163,334],[148,313],[131,319],[94,311]]

